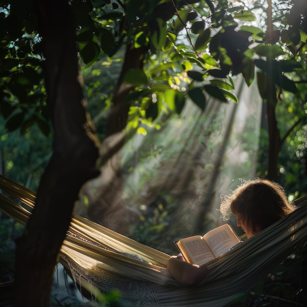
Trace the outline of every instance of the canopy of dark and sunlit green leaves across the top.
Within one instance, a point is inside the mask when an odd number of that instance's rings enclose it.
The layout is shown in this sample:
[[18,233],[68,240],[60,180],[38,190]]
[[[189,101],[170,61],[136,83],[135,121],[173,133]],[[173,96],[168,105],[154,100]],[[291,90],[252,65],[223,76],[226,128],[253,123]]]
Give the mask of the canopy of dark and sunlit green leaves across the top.
[[[303,69],[293,56],[304,51],[300,44],[306,42],[306,20],[299,19],[295,1],[292,10],[284,9],[275,18],[283,24],[269,38],[251,26],[255,15],[244,3],[218,1],[213,6],[209,1],[190,0],[176,1],[176,7],[172,1],[70,3],[77,22],[80,58],[86,66],[94,64],[101,52],[112,58],[128,42],[129,48],[148,50],[144,70],[130,70],[124,76],[137,87],[128,98],[140,106],[140,114],[135,116],[153,120],[162,110],[162,102],[180,112],[187,97],[202,109],[208,95],[223,102],[237,101],[231,93],[231,76],[242,74],[251,84],[255,64],[262,71],[258,73],[259,84],[265,85],[263,81],[269,78],[284,90],[297,92],[294,81],[284,74]],[[8,130],[20,127],[25,131],[37,123],[48,134],[41,75],[44,57],[31,9],[31,5],[16,5],[14,1],[2,3],[1,28],[11,30],[1,33],[1,110]],[[281,20],[282,16],[285,18]],[[14,27],[9,27],[11,24]],[[282,42],[288,51],[281,48]],[[267,95],[265,86],[259,89],[263,97]],[[153,94],[156,102],[150,99]]]

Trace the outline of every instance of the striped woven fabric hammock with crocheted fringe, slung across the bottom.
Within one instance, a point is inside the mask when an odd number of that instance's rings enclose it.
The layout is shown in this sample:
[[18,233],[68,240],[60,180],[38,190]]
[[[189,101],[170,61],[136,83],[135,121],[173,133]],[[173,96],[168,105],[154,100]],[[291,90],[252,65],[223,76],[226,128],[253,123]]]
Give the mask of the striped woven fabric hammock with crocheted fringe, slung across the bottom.
[[[26,225],[35,193],[0,176],[0,209]],[[225,306],[307,240],[307,196],[299,208],[227,254],[208,263],[209,275],[199,285],[175,281],[166,268],[169,255],[147,247],[81,216],[73,215],[59,261],[81,288],[119,290],[132,306]]]

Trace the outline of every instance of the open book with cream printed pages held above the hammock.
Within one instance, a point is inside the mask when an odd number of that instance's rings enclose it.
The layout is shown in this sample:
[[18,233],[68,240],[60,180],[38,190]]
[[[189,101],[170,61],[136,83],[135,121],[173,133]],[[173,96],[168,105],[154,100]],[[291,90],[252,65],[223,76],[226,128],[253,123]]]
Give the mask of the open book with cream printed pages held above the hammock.
[[181,239],[175,244],[187,262],[202,265],[228,252],[241,242],[228,224],[208,231],[204,236],[194,235]]

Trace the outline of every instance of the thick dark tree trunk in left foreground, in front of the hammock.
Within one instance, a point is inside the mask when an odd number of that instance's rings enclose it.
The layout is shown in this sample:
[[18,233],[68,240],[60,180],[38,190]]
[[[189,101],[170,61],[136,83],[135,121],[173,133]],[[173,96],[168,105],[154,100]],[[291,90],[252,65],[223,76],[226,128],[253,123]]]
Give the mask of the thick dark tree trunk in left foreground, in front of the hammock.
[[66,1],[40,0],[53,154],[33,214],[17,240],[15,306],[49,306],[54,266],[82,184],[98,175],[98,146],[78,78],[75,23]]

